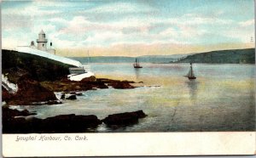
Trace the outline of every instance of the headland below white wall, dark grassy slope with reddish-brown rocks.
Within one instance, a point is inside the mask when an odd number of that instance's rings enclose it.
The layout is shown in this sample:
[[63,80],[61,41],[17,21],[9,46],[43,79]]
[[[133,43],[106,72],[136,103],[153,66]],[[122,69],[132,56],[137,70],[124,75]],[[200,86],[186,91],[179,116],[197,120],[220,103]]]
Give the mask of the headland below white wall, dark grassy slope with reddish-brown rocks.
[[[16,93],[3,88],[3,101],[6,104],[39,105],[61,104],[55,92],[73,93],[113,87],[117,89],[134,88],[129,81],[110,80],[90,76],[80,82],[67,79],[71,65],[45,59],[32,54],[20,54],[3,49],[3,76],[17,85]],[[70,98],[70,99],[74,99]]]

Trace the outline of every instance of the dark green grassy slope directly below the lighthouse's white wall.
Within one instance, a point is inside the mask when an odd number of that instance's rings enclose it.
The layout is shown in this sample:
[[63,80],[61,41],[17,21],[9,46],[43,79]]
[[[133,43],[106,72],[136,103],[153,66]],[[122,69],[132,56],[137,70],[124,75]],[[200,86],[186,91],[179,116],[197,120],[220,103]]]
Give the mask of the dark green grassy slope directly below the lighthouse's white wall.
[[70,66],[37,55],[2,50],[2,73],[8,74],[10,82],[17,82],[24,73],[28,73],[39,82],[55,81],[66,76]]

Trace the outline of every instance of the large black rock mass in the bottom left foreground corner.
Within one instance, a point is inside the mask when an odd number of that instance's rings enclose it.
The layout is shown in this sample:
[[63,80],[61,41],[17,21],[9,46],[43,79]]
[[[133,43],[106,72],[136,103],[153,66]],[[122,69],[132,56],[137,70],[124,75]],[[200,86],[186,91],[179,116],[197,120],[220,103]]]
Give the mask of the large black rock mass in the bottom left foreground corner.
[[61,115],[38,119],[15,116],[31,115],[28,111],[3,109],[3,133],[81,133],[102,124],[96,116]]

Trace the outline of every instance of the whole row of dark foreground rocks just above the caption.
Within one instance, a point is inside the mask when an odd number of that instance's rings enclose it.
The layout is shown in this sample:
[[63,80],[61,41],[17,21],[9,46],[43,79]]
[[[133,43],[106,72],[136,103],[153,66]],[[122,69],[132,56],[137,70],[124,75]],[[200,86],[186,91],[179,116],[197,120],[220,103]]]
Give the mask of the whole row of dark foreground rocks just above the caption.
[[[97,116],[60,115],[39,119],[35,113],[27,110],[11,110],[2,107],[3,133],[90,133],[103,122],[109,127],[122,127],[136,124],[139,119],[146,117],[143,110],[113,114],[103,120]],[[24,117],[27,116],[27,117]]]

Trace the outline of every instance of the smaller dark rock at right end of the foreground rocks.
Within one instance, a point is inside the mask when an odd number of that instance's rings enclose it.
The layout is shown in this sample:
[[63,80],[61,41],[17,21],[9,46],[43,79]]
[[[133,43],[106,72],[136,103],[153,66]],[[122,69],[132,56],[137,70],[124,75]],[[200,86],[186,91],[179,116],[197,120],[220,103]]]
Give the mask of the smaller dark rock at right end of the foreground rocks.
[[131,125],[131,124],[137,123],[139,118],[144,118],[146,116],[147,115],[145,115],[143,110],[138,110],[134,112],[125,112],[125,113],[109,115],[102,121],[108,126]]

